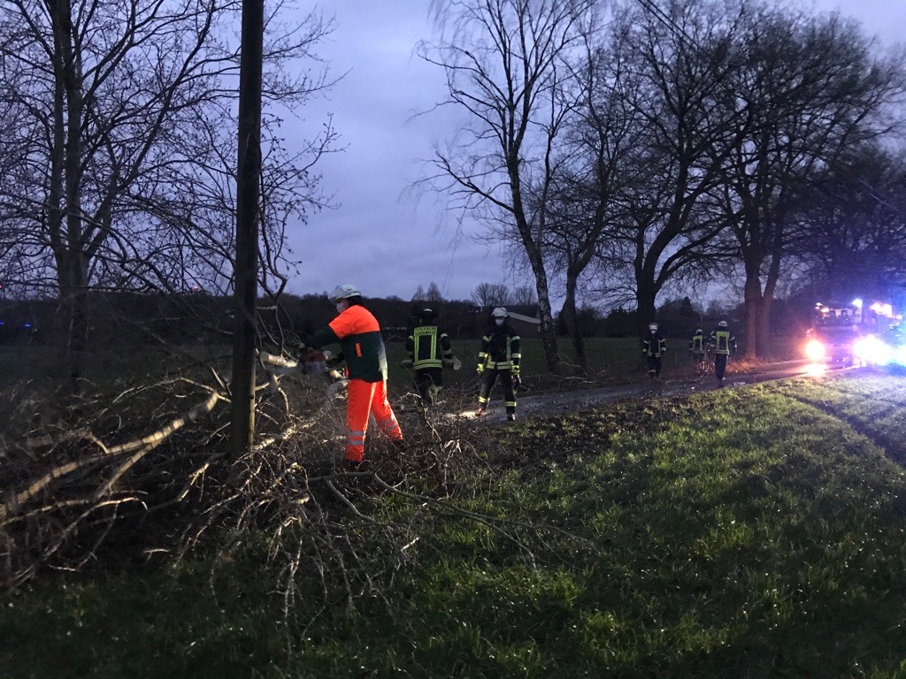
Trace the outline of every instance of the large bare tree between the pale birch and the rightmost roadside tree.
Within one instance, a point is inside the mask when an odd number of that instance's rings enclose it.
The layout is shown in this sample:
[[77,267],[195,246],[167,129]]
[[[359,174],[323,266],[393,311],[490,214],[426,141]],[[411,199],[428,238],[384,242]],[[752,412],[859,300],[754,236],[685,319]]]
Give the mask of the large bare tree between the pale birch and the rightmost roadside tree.
[[[633,10],[617,30],[641,81],[626,92],[643,120],[641,159],[626,181],[626,210],[612,231],[611,262],[629,263],[639,331],[668,282],[708,268],[708,245],[725,224],[706,198],[744,130],[745,106],[726,106],[721,85],[742,66],[733,45],[746,0],[670,0]],[[627,72],[632,72],[628,69]]]

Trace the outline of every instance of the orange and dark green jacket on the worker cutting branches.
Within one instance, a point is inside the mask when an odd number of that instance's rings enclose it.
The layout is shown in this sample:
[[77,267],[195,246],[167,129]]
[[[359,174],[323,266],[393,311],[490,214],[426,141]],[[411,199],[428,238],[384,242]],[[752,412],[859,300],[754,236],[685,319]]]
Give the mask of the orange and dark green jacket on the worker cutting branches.
[[353,304],[321,330],[305,339],[313,349],[339,343],[346,372],[352,379],[382,382],[387,379],[387,353],[381,338],[381,327],[371,311]]

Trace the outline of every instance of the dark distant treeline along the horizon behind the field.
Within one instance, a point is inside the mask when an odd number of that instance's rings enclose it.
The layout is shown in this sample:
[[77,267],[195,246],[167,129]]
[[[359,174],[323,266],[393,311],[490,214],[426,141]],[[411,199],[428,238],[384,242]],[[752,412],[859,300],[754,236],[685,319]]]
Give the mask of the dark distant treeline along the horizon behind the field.
[[[228,343],[232,333],[233,301],[205,292],[179,295],[135,292],[95,292],[89,296],[92,319],[90,343],[95,346],[130,346],[145,342]],[[489,309],[472,301],[407,301],[399,297],[367,298],[365,304],[381,322],[386,339],[405,339],[418,311],[429,306],[439,311],[439,323],[454,339],[474,339],[487,327]],[[0,344],[54,344],[66,337],[59,327],[58,301],[0,301]],[[288,342],[304,337],[336,315],[324,295],[283,295],[278,302],[259,300],[259,327],[266,341]],[[772,325],[778,336],[805,332],[810,318],[807,301],[776,301]],[[520,310],[520,311],[525,311]],[[530,315],[530,314],[529,314]],[[660,328],[670,337],[685,337],[699,327],[706,331],[726,319],[741,335],[742,309],[701,310],[689,298],[668,301],[658,310]],[[636,311],[593,308],[579,312],[585,337],[631,337],[637,331]],[[566,329],[561,320],[559,334]]]

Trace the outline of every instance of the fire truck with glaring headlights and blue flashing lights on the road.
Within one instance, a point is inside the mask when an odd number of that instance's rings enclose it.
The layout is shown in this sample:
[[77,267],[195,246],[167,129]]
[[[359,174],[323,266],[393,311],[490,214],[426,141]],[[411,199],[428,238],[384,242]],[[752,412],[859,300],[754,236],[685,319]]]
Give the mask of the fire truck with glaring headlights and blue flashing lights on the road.
[[814,322],[805,338],[805,358],[843,366],[886,362],[885,337],[896,321],[892,306],[862,300],[849,303],[819,302]]

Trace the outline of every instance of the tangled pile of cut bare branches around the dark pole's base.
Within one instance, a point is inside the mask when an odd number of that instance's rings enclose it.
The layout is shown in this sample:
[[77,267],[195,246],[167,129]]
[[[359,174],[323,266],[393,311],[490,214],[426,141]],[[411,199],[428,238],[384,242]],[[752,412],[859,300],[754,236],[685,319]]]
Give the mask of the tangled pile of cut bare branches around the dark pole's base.
[[118,383],[90,397],[48,397],[24,385],[0,395],[6,587],[44,569],[128,568],[183,558],[200,545],[228,552],[254,531],[269,536],[268,565],[284,574],[287,611],[300,569],[352,601],[375,583],[373,572],[357,568],[363,554],[373,563],[380,552],[399,566],[418,539],[419,511],[381,517],[363,509],[368,499],[397,493],[412,508],[445,502],[478,462],[476,436],[487,435],[454,414],[461,395],[427,414],[404,400],[405,448],[372,430],[368,471],[350,471],[342,461],[344,402],[325,397],[323,378],[300,378],[258,389],[258,444],[234,456],[228,390],[217,374],[210,381]]

